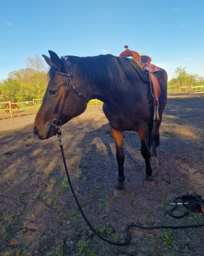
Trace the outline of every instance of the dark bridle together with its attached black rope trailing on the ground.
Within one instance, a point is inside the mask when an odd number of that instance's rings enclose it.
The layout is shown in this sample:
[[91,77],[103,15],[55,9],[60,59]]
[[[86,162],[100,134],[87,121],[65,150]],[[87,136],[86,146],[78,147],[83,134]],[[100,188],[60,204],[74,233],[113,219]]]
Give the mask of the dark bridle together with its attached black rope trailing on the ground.
[[[75,201],[76,201],[76,204],[78,206],[78,209],[80,210],[81,214],[82,214],[82,217],[84,218],[84,220],[86,221],[87,225],[89,226],[89,228],[100,238],[102,239],[103,241],[107,242],[107,243],[110,243],[112,245],[117,245],[117,246],[124,246],[124,245],[127,245],[129,244],[130,240],[131,240],[131,235],[130,235],[130,232],[129,232],[129,228],[130,227],[136,227],[136,228],[140,228],[140,229],[146,229],[146,230],[151,230],[151,229],[161,229],[161,228],[170,228],[170,229],[178,229],[178,228],[198,228],[198,227],[202,227],[204,226],[204,223],[200,223],[200,224],[189,224],[189,225],[181,225],[181,226],[166,226],[166,225],[160,225],[160,226],[142,226],[140,224],[137,224],[137,223],[129,223],[127,226],[126,226],[126,239],[124,239],[124,242],[114,242],[114,241],[111,241],[109,239],[107,239],[106,237],[103,237],[101,236],[92,226],[91,224],[89,223],[89,221],[87,220],[86,216],[84,215],[84,212],[78,202],[78,199],[76,197],[76,194],[75,194],[75,191],[73,189],[73,186],[71,184],[71,180],[70,180],[70,177],[69,177],[69,173],[68,173],[68,170],[67,170],[67,165],[66,165],[66,160],[65,160],[65,156],[64,156],[64,150],[63,150],[63,144],[62,144],[62,140],[61,140],[61,136],[62,136],[62,131],[60,130],[60,126],[62,126],[62,121],[60,120],[61,116],[62,116],[62,111],[64,109],[64,105],[65,105],[65,102],[66,102],[66,98],[69,94],[69,83],[71,83],[74,91],[77,93],[78,96],[80,96],[81,98],[83,98],[84,100],[86,100],[86,98],[84,98],[81,93],[78,91],[77,87],[74,85],[74,83],[72,82],[72,74],[73,74],[73,70],[72,70],[72,67],[71,67],[71,63],[67,60],[67,59],[64,59],[63,60],[65,61],[65,63],[67,64],[67,73],[63,73],[63,72],[58,72],[56,71],[55,74],[58,74],[60,76],[67,76],[67,86],[66,86],[66,91],[65,91],[65,95],[64,95],[64,99],[63,99],[63,102],[62,102],[62,106],[60,108],[60,111],[59,111],[59,114],[58,114],[58,117],[56,119],[53,119],[52,121],[52,125],[55,126],[55,135],[57,135],[58,137],[58,141],[59,141],[59,146],[60,146],[60,149],[61,149],[61,153],[62,153],[62,159],[63,159],[63,163],[64,163],[64,168],[65,168],[65,171],[66,171],[66,175],[67,175],[67,180],[69,182],[69,186],[70,186],[70,189],[73,193],[73,196],[75,198]],[[86,100],[87,102],[87,100]],[[59,122],[59,124],[58,124]],[[177,205],[179,204],[177,202],[177,199],[182,199],[182,204],[183,206],[185,206],[186,208],[188,208],[189,211],[193,211],[193,210],[197,210],[197,211],[202,211],[204,213],[204,200],[202,200],[201,196],[198,196],[198,195],[184,195],[182,197],[176,197],[174,199],[174,204],[175,204],[175,207],[169,212],[169,215],[171,215],[172,217],[174,218],[182,218],[184,216],[186,216],[189,212],[187,211],[186,213],[178,216],[178,215],[173,215],[173,211],[175,211],[177,209]],[[186,201],[188,201],[186,203]],[[189,204],[189,206],[186,206],[186,204]]]

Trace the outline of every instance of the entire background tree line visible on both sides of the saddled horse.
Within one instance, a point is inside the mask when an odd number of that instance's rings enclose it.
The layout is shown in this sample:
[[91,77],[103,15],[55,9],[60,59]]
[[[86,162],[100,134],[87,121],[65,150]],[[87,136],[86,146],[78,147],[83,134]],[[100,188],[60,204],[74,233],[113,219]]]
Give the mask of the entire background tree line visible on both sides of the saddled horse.
[[[48,82],[44,60],[35,54],[28,56],[25,62],[25,69],[10,72],[8,78],[0,82],[0,101],[21,102],[44,96]],[[168,87],[184,87],[204,83],[202,76],[188,74],[186,67],[177,67],[174,76],[168,82]]]

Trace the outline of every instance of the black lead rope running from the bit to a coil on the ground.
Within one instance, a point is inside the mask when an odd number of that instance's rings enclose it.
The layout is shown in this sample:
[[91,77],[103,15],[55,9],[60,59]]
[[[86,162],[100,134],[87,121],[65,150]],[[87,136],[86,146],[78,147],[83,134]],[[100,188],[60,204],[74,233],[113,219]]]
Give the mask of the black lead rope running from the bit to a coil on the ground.
[[[166,225],[160,225],[160,226],[141,226],[137,223],[129,223],[127,226],[126,226],[126,239],[124,242],[113,242],[109,239],[106,239],[105,237],[101,236],[92,226],[91,224],[89,223],[89,221],[87,220],[86,216],[84,215],[84,212],[78,202],[78,199],[75,195],[75,191],[72,187],[72,184],[71,184],[71,180],[69,178],[69,173],[68,173],[68,170],[67,170],[67,164],[66,164],[66,160],[65,160],[65,157],[64,157],[64,150],[63,150],[63,144],[62,144],[62,140],[61,140],[61,137],[62,137],[62,131],[60,130],[60,127],[57,126],[57,137],[58,137],[58,141],[59,141],[59,145],[60,145],[60,149],[61,149],[61,153],[62,153],[62,159],[63,159],[63,163],[64,163],[64,168],[65,168],[65,171],[66,171],[66,174],[67,174],[67,180],[69,182],[69,186],[71,188],[71,192],[73,193],[73,196],[75,198],[75,201],[76,201],[76,204],[84,218],[84,220],[86,221],[87,225],[89,226],[89,228],[98,236],[100,237],[100,239],[102,239],[103,241],[107,242],[107,243],[110,243],[112,245],[118,245],[118,246],[124,246],[124,245],[127,245],[130,240],[131,240],[131,235],[129,233],[129,228],[130,227],[136,227],[136,228],[140,228],[140,229],[146,229],[146,230],[149,230],[149,229],[161,229],[161,228],[170,228],[170,229],[178,229],[178,228],[199,228],[199,227],[202,227],[204,226],[204,223],[201,223],[201,224],[191,224],[191,225],[181,225],[181,226],[166,226]],[[178,198],[181,198],[182,199],[182,204],[188,208],[189,210],[191,210],[190,206],[191,206],[191,202],[192,202],[192,205],[193,205],[193,208],[195,208],[195,204],[197,206],[199,206],[199,210],[202,211],[204,213],[204,201],[202,200],[201,196],[198,196],[198,195],[184,195],[182,197],[176,197],[174,199],[175,201],[175,207],[169,212],[169,215],[171,215],[172,217],[175,217],[175,218],[181,218],[181,217],[184,217],[187,213],[184,213],[184,215],[181,215],[181,216],[175,216],[172,214],[172,212],[174,210],[176,210],[177,208],[177,199]],[[186,206],[185,202],[186,200],[189,200],[189,206]]]

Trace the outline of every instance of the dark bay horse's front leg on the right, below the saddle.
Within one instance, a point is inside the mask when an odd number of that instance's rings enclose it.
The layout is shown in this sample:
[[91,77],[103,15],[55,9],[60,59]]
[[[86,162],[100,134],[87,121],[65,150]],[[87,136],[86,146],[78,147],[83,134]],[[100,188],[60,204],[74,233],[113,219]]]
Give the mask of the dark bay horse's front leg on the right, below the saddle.
[[[144,186],[152,187],[154,186],[154,182],[153,182],[154,180],[151,176],[152,174],[152,168],[150,164],[151,152],[149,150],[149,143],[148,143],[148,135],[149,135],[148,124],[146,122],[140,124],[140,127],[138,129],[138,134],[141,141],[141,154],[146,164],[145,181],[147,182],[144,183]],[[151,182],[151,183],[148,183],[148,182]]]

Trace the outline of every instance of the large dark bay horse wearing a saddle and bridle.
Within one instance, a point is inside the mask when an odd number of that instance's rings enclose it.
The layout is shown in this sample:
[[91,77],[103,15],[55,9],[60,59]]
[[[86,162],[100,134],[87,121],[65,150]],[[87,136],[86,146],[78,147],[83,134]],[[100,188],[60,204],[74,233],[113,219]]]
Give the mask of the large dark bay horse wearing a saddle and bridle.
[[[146,178],[153,182],[151,156],[157,157],[159,126],[167,100],[167,74],[160,69],[158,78],[161,95],[159,98],[159,121],[153,121],[149,82],[138,71],[138,66],[129,58],[118,58],[111,54],[94,57],[58,55],[49,51],[50,58],[42,55],[50,66],[49,83],[34,123],[34,133],[39,139],[55,135],[52,120],[61,112],[62,125],[83,113],[87,101],[97,98],[104,102],[103,111],[110,123],[115,139],[118,163],[116,195],[124,194],[124,151],[123,132],[138,132],[141,154],[146,163]],[[71,72],[71,74],[69,74]],[[146,74],[145,74],[146,76]],[[71,81],[71,82],[70,82]],[[67,84],[71,83],[69,95],[64,102]],[[61,108],[61,109],[60,109]],[[152,153],[150,147],[152,144]]]

